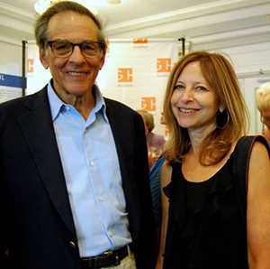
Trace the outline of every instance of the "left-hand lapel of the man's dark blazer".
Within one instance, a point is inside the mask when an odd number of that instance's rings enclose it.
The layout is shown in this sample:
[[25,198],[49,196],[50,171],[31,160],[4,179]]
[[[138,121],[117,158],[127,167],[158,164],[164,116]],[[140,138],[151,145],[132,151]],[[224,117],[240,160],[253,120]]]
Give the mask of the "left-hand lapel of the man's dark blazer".
[[24,106],[29,110],[18,120],[40,178],[58,214],[76,237],[46,88],[29,98]]

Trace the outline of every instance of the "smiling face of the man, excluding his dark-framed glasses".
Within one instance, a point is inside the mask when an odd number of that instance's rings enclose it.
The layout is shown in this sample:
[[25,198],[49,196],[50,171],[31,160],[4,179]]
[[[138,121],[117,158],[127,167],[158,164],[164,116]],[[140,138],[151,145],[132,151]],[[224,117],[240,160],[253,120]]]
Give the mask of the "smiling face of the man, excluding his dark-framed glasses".
[[[49,20],[48,29],[49,41],[98,42],[98,28],[94,21],[72,11],[55,14]],[[67,103],[72,97],[92,95],[91,88],[103,68],[104,56],[105,51],[96,58],[85,58],[78,46],[66,58],[55,56],[49,46],[47,51],[40,49],[40,61],[51,72],[53,88],[58,97]]]

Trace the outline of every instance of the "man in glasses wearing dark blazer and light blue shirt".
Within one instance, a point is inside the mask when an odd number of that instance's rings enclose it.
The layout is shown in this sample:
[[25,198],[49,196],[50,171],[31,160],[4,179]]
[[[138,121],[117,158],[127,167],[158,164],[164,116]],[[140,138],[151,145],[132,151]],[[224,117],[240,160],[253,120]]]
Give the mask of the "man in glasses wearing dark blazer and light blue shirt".
[[8,249],[10,268],[21,269],[153,268],[144,127],[94,84],[105,58],[101,24],[59,2],[35,34],[52,79],[0,106],[2,256]]

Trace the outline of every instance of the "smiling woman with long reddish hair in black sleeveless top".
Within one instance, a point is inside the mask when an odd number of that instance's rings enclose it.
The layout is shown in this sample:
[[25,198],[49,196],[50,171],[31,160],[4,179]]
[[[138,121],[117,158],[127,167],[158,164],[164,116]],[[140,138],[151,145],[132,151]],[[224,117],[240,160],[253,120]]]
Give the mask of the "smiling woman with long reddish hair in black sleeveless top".
[[248,113],[229,60],[205,51],[181,58],[164,113],[171,135],[161,170],[166,194],[157,268],[164,254],[164,269],[269,269],[268,145],[261,136],[253,144],[246,194],[235,174],[241,152],[234,150],[247,134]]

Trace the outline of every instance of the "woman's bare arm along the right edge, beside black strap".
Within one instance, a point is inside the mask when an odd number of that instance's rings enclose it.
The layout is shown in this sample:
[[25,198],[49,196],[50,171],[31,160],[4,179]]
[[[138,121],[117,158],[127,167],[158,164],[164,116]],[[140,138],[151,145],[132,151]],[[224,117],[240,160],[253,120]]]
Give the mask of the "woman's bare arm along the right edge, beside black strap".
[[270,160],[260,142],[248,169],[247,249],[250,269],[270,268]]

